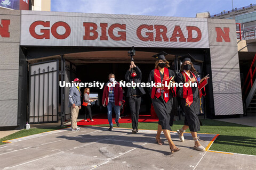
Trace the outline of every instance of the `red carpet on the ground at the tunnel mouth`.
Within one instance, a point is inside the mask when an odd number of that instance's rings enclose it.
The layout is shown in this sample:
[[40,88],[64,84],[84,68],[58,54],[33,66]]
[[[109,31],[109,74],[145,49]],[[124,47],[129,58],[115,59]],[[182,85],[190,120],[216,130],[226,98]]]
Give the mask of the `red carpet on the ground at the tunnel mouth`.
[[[77,122],[77,125],[97,125],[97,124],[108,124],[108,117],[107,115],[99,115],[93,117],[94,122],[89,121],[89,118],[87,121],[84,122],[84,120]],[[115,124],[115,118],[113,118],[113,124]],[[139,116],[139,122],[158,122],[158,118],[151,117],[150,115],[141,115]],[[119,123],[132,123],[131,116],[127,117],[121,117],[119,119]]]

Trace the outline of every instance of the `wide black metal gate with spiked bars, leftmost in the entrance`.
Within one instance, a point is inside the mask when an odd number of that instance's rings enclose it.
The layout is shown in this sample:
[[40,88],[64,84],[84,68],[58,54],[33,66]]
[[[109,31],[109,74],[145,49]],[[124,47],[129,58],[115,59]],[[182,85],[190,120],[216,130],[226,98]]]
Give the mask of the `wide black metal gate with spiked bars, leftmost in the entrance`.
[[58,122],[59,61],[29,65],[29,123]]

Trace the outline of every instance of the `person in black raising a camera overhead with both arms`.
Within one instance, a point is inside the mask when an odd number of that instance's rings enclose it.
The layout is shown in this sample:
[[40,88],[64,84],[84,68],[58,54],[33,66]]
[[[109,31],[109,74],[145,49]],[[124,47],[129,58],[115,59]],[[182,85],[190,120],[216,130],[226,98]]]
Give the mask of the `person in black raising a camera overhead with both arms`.
[[[141,71],[137,65],[131,61],[130,69],[127,70],[125,74],[126,82],[141,82]],[[140,113],[140,103],[141,103],[141,96],[146,94],[145,90],[142,87],[129,87],[127,89],[127,95],[130,110],[131,110],[131,117],[132,117],[132,133],[138,132],[138,120],[139,120],[139,113]]]

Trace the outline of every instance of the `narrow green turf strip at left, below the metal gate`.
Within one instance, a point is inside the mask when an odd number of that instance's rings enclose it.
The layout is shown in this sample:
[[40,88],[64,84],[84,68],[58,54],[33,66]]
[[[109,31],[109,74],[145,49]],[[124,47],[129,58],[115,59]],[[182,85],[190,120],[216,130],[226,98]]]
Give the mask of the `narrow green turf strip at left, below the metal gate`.
[[3,142],[3,141],[6,141],[6,140],[26,137],[26,136],[29,136],[29,135],[32,135],[32,134],[54,131],[54,130],[63,129],[63,128],[66,128],[66,126],[64,126],[64,127],[58,126],[58,127],[53,127],[53,128],[31,128],[29,130],[23,129],[23,130],[20,130],[18,132],[15,132],[13,134],[7,135],[4,138],[1,138],[0,139],[0,145],[6,144],[5,142]]

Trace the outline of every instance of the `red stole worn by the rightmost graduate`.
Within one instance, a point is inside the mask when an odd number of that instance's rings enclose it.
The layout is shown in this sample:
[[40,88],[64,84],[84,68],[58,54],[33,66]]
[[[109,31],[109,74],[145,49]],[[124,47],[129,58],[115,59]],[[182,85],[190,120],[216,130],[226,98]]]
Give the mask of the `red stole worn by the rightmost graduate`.
[[[189,71],[189,72],[191,73],[190,75],[193,75],[193,77],[196,78],[195,74],[193,74],[191,71]],[[185,72],[182,72],[182,75],[184,76],[185,83],[186,83],[190,78],[188,77],[188,75]],[[193,78],[193,77],[191,77],[191,78]],[[196,82],[197,82],[197,79],[196,79]],[[197,87],[199,87],[198,82],[197,82]],[[186,104],[188,106],[190,106],[193,103],[193,91],[190,86],[188,86],[188,87],[183,86],[183,98],[186,99]]]

